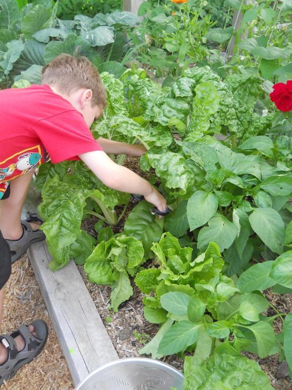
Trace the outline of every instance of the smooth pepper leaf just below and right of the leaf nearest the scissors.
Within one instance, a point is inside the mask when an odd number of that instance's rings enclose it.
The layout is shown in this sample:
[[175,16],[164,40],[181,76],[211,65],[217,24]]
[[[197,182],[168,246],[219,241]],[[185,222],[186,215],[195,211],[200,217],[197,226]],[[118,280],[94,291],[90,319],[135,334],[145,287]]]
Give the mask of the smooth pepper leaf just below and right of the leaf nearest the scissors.
[[210,241],[215,242],[220,251],[229,248],[237,235],[237,229],[234,223],[230,222],[225,216],[216,214],[212,217],[208,226],[201,229],[198,236],[198,248],[204,250]]

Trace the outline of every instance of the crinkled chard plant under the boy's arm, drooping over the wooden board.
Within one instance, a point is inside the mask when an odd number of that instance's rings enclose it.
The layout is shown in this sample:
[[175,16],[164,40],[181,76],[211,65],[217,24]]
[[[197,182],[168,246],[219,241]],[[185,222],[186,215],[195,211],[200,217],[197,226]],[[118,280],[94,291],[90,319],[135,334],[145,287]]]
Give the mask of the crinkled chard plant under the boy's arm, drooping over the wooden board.
[[[49,166],[44,167],[47,170]],[[45,220],[42,230],[53,257],[52,270],[64,267],[70,258],[76,257],[77,248],[80,248],[78,264],[84,264],[92,253],[95,240],[81,229],[85,216],[91,214],[108,224],[116,224],[115,206],[129,201],[129,194],[104,187],[81,163],[75,163],[74,168],[74,173],[64,174],[62,179],[55,173],[48,180],[48,173],[44,173],[46,182],[39,213]]]

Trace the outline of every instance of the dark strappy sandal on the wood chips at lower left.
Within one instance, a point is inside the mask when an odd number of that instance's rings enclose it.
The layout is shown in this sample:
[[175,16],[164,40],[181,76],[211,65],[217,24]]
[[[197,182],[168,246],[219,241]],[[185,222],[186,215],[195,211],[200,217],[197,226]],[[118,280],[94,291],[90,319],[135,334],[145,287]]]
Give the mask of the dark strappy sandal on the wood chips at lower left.
[[[32,361],[35,356],[42,351],[48,339],[48,327],[42,319],[31,322],[36,336],[29,331],[26,325],[22,325],[11,335],[0,335],[0,343],[7,348],[7,360],[0,364],[0,386],[4,380],[12,378],[17,370]],[[21,351],[17,351],[15,337],[21,335],[25,346]]]

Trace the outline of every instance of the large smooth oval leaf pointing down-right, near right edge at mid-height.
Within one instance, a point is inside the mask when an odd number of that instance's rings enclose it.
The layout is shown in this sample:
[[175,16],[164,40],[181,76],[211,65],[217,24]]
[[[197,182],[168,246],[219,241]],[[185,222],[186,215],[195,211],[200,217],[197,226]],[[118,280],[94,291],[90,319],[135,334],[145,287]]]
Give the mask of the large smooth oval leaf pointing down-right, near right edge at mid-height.
[[272,208],[257,208],[249,215],[251,228],[271,251],[281,253],[285,241],[284,222]]

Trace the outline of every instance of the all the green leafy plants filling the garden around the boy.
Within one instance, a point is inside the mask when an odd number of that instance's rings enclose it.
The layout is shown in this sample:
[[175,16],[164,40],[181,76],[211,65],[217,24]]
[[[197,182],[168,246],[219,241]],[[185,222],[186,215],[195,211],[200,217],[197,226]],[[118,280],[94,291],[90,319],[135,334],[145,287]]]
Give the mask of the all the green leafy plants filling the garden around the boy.
[[[16,87],[40,82],[44,64],[61,52],[90,58],[108,102],[94,136],[142,143],[148,153],[141,168],[152,170],[172,211],[158,219],[140,202],[115,236],[104,222],[118,222],[115,207],[123,206],[122,216],[129,196],[106,189],[80,162],[46,164],[37,185],[50,268],[71,257],[85,263],[90,281],[113,287],[115,311],[132,295],[135,276],[145,294],[145,318],[161,324],[140,353],[194,353],[186,360],[185,389],[271,388],[240,353],[264,358],[280,351],[291,369],[290,314],[275,337],[271,323],[278,314],[263,314],[269,303],[261,293],[292,288],[292,117],[273,111],[268,96],[272,83],[292,75],[289,34],[277,27],[290,6],[144,2],[137,28],[136,16],[112,7],[91,0],[58,6],[9,0],[0,12],[3,85],[12,78]],[[242,25],[233,31],[231,16],[240,7]],[[120,62],[126,30],[135,47]],[[131,55],[165,77],[162,86],[145,70],[126,70]],[[99,219],[96,247],[81,229],[88,214]],[[251,258],[258,263],[250,266]]]

